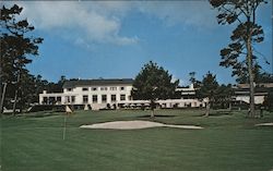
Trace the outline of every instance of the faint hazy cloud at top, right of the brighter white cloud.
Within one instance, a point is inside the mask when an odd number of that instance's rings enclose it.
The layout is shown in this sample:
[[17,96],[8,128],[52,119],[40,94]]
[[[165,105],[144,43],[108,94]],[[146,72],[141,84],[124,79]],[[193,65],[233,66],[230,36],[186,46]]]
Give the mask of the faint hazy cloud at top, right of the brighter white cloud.
[[139,2],[140,11],[166,22],[167,26],[183,24],[212,28],[217,25],[215,10],[209,1],[145,1]]

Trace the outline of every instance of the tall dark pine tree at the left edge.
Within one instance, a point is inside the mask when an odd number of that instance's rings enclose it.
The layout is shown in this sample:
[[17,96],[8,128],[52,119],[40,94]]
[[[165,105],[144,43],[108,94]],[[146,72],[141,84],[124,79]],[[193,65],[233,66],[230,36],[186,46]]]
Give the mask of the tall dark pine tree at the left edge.
[[[27,56],[38,56],[38,45],[43,42],[43,38],[29,36],[34,26],[29,25],[26,19],[16,20],[22,10],[23,8],[16,4],[10,9],[4,5],[0,9],[0,77],[1,83],[7,83],[8,87],[14,87],[11,94],[7,95],[8,98],[11,98],[12,94],[14,95],[13,111],[16,108],[19,91],[22,90],[21,78],[24,74],[28,74],[25,66],[32,62]],[[21,95],[23,94],[21,93]]]

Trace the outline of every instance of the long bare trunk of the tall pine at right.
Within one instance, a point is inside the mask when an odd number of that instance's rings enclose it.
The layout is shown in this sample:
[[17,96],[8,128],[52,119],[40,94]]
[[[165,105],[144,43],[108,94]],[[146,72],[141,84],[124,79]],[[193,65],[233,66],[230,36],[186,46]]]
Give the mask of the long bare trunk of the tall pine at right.
[[[249,34],[251,35],[251,34]],[[248,74],[249,74],[249,115],[250,118],[253,118],[256,115],[254,111],[254,76],[253,76],[253,70],[252,70],[252,47],[251,47],[251,36],[248,36],[247,40],[247,61],[248,61]]]

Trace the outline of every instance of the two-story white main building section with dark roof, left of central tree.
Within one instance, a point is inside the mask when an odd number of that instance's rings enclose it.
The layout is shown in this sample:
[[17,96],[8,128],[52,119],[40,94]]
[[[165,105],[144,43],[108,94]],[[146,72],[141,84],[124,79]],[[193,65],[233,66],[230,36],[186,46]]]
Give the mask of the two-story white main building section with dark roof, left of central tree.
[[131,100],[131,78],[72,80],[63,84],[63,93],[39,95],[39,103],[90,105],[92,109],[106,108]]

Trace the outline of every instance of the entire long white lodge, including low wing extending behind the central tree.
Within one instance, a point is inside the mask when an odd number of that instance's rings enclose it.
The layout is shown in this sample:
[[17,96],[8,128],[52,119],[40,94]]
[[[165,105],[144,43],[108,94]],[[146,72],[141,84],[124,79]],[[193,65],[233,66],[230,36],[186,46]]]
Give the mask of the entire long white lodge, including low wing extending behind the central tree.
[[[147,106],[150,101],[133,100],[131,96],[132,78],[120,80],[70,80],[66,81],[63,93],[39,94],[40,105],[86,106],[94,110],[105,108],[136,108]],[[205,102],[194,98],[195,89],[191,85],[177,88],[181,91],[180,99],[158,100],[163,108],[204,107]]]

